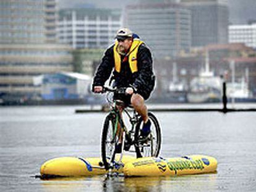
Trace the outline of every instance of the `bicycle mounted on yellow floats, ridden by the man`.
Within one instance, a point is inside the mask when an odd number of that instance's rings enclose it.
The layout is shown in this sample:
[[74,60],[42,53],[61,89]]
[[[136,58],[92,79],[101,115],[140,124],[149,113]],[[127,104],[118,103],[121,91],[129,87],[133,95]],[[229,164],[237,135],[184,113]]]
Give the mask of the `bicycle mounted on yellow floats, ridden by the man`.
[[[157,157],[161,146],[161,129],[155,115],[148,112],[149,120],[151,120],[151,133],[147,138],[140,138],[140,130],[143,126],[142,117],[133,109],[132,106],[125,106],[121,100],[110,99],[109,93],[125,93],[126,88],[110,88],[104,87],[103,93],[107,93],[107,101],[111,106],[111,111],[106,115],[103,124],[103,132],[101,138],[101,157],[106,170],[112,170],[122,165],[122,154],[124,151],[130,151],[130,147],[134,146],[137,158],[153,156]],[[130,122],[130,129],[126,127],[120,110],[127,114]],[[129,108],[133,109],[132,114]],[[121,142],[120,142],[121,141]],[[121,155],[116,158],[116,147],[122,143]],[[122,165],[123,166],[123,165]]]

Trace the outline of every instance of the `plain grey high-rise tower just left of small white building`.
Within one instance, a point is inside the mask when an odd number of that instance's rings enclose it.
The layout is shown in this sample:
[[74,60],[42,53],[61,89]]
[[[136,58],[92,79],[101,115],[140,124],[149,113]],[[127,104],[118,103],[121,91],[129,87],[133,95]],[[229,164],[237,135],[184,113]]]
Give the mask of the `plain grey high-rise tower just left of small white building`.
[[181,0],[192,12],[192,47],[228,43],[227,0]]

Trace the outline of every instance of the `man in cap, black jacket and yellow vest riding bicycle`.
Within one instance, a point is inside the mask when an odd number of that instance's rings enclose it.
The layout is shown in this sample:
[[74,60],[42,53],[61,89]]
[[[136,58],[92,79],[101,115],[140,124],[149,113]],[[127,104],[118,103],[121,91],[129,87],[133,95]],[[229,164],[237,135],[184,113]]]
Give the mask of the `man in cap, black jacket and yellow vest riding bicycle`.
[[126,94],[114,94],[114,99],[131,104],[142,116],[143,127],[140,135],[150,135],[151,122],[148,119],[145,100],[150,97],[155,86],[150,49],[128,28],[117,31],[116,42],[105,51],[93,79],[93,92],[102,93],[105,81],[113,71],[114,86],[126,88]]

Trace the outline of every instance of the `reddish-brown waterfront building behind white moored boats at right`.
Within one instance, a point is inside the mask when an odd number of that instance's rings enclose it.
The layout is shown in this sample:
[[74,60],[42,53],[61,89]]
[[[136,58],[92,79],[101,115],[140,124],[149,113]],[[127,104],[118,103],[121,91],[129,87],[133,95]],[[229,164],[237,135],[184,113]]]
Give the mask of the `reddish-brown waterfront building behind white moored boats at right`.
[[232,81],[231,61],[234,61],[234,81],[241,81],[245,77],[245,69],[247,69],[246,81],[250,91],[256,95],[256,52],[243,43],[209,44],[204,48],[192,49],[190,54],[177,57],[174,61],[158,61],[155,66],[158,67],[163,63],[166,70],[173,71],[170,63],[176,62],[179,80],[184,80],[189,84],[193,78],[200,75],[200,72],[207,69],[204,65],[206,52],[208,52],[209,58],[208,69],[213,72],[215,77],[222,76],[227,82]]

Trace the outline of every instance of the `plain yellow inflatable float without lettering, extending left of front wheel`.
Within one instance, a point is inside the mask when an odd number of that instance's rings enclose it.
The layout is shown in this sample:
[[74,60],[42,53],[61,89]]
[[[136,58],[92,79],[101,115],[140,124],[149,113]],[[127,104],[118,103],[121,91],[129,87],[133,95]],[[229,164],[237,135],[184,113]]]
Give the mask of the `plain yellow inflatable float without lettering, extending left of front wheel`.
[[[122,164],[134,160],[135,157],[123,156]],[[114,172],[122,172],[123,167],[116,167]],[[101,158],[98,157],[59,157],[46,161],[40,168],[41,178],[54,177],[86,177],[106,173]]]

